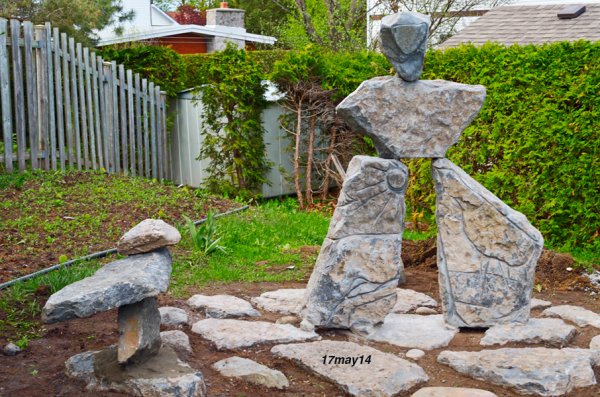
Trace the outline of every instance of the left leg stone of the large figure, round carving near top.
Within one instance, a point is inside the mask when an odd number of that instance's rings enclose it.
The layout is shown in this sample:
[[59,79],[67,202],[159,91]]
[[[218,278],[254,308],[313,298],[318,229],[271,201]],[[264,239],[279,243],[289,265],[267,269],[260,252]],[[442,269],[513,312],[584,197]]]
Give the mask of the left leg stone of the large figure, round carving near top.
[[383,322],[404,281],[400,257],[408,170],[356,156],[306,288],[301,315],[321,328],[368,333]]

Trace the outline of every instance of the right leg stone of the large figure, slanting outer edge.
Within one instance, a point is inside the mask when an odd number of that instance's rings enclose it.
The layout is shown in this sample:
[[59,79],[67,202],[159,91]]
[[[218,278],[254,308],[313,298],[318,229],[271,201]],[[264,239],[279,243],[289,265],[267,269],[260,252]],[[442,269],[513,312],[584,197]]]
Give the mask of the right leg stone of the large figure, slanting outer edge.
[[432,173],[446,321],[459,327],[527,322],[542,235],[451,161],[433,161]]

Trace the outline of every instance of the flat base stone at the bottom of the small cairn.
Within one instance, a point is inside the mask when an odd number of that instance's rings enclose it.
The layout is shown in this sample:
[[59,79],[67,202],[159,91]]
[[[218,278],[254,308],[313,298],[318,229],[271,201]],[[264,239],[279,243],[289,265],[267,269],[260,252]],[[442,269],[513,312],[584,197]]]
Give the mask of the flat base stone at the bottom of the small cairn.
[[67,376],[87,384],[90,392],[116,391],[137,397],[205,397],[202,373],[163,347],[139,365],[117,362],[116,346],[77,354],[65,363]]

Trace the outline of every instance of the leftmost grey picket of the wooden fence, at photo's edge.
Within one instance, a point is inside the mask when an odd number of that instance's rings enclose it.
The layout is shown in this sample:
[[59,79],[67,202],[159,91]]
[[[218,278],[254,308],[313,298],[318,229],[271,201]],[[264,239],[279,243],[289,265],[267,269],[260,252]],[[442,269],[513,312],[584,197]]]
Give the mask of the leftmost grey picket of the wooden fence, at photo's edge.
[[8,68],[8,51],[6,45],[8,26],[6,19],[0,18],[0,99],[2,100],[2,132],[4,138],[4,167],[7,172],[13,171],[12,163],[12,106],[10,98],[10,79]]

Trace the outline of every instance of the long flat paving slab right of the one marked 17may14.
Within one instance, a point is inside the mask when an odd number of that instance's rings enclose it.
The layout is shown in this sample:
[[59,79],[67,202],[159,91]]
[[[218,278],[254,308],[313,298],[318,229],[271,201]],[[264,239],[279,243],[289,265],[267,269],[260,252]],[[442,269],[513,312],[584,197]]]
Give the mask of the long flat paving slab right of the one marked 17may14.
[[480,352],[444,351],[438,362],[472,378],[513,388],[518,393],[562,396],[596,384],[593,366],[600,351],[502,348]]

